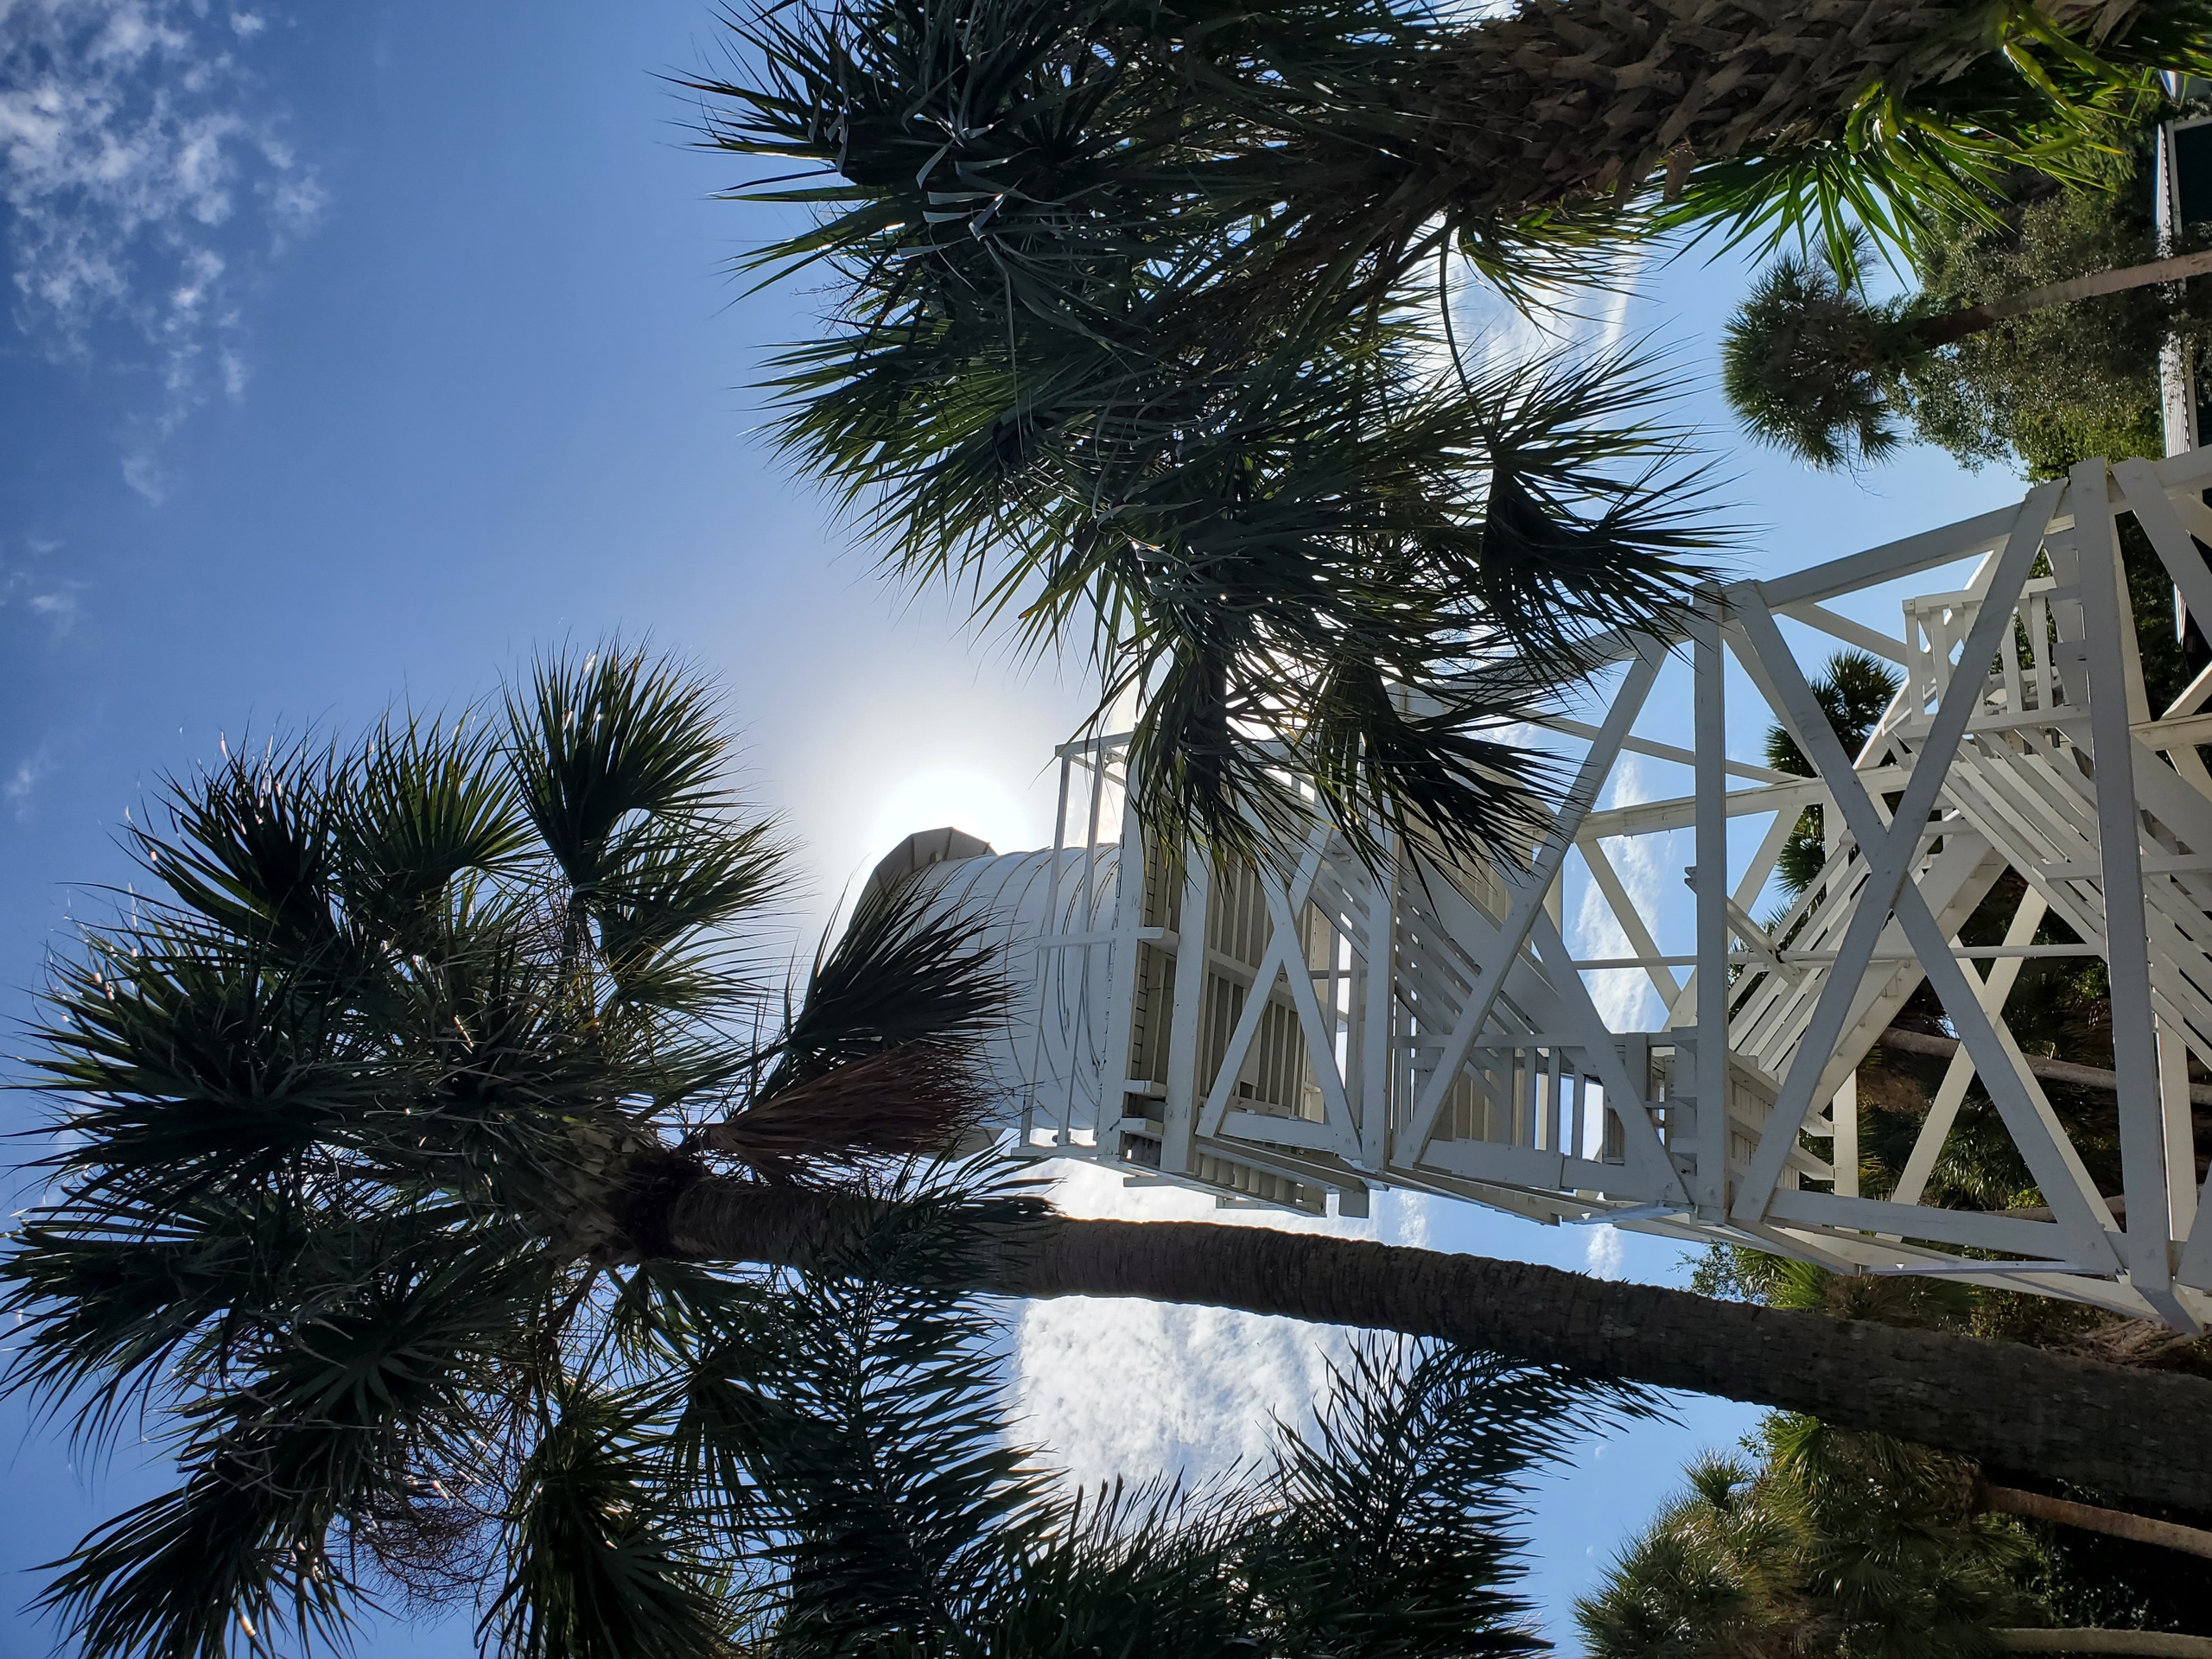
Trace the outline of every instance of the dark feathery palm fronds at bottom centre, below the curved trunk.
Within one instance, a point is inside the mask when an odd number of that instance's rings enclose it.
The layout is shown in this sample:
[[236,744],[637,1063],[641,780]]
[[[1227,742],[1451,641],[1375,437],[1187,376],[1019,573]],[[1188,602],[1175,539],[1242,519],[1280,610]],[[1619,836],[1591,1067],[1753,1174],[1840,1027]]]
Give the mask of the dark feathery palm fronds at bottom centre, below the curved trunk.
[[732,1440],[783,1528],[785,1566],[763,1646],[993,1659],[1546,1648],[1511,1593],[1522,1482],[1604,1420],[1648,1413],[1648,1396],[1371,1343],[1332,1371],[1312,1427],[1281,1429],[1256,1478],[1071,1498],[1002,1431],[995,1321],[885,1287],[929,1283],[931,1263],[949,1274],[975,1248],[973,1219],[947,1206],[958,1190],[878,1212],[810,1294],[776,1301],[776,1334],[750,1349],[770,1360],[743,1376]]

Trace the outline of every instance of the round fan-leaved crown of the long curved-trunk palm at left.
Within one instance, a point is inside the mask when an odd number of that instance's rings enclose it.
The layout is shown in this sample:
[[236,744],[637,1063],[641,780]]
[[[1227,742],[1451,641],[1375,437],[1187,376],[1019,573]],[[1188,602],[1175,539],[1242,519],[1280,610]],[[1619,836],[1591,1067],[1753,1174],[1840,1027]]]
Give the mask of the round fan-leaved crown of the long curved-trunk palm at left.
[[[608,646],[502,714],[168,781],[128,907],[53,967],[7,1380],[179,1471],[55,1564],[86,1655],[341,1641],[392,1588],[482,1595],[513,1655],[723,1650],[759,1546],[732,1400],[686,1378],[768,1292],[650,1259],[684,1183],[759,1168],[697,1126],[748,1119],[792,1031],[816,1091],[927,1053],[900,1150],[973,1110],[1000,991],[914,902],[761,1048],[737,929],[783,854],[695,677]],[[810,1104],[779,1095],[776,1157],[863,1175],[883,1126]]]

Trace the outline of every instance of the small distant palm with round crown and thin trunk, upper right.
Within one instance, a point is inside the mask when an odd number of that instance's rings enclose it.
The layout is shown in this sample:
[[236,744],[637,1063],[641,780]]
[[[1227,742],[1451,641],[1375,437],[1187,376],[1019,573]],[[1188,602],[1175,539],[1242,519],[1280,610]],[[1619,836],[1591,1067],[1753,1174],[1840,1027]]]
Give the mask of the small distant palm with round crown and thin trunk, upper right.
[[[1776,259],[1721,341],[1721,389],[1745,429],[1823,471],[1889,456],[1907,383],[1947,345],[2020,316],[2212,272],[2212,252],[2095,270],[1971,305],[1927,294],[1867,299],[1858,246],[1843,257]],[[2066,365],[2053,365],[2066,374]]]

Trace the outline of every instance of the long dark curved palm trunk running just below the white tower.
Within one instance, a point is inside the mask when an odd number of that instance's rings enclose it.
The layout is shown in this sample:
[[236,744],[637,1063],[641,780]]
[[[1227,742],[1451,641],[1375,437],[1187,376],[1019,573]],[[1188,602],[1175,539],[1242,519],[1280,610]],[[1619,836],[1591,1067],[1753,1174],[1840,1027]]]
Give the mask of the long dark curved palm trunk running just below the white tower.
[[[854,1199],[708,1177],[648,1230],[695,1261],[805,1265]],[[1871,1429],[1993,1469],[2197,1511],[2212,1493],[2212,1383],[2015,1343],[1721,1303],[1520,1261],[1272,1228],[1044,1217],[978,1241],[964,1287],[1139,1296],[1440,1336],[1524,1360],[1719,1394]]]

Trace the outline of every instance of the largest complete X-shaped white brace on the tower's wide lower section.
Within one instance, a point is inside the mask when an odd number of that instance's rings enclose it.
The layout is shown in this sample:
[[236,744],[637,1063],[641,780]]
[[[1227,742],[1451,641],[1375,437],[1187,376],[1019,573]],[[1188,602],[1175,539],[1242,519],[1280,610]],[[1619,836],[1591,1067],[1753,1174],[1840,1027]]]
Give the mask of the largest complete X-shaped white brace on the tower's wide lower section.
[[[1902,799],[1889,825],[1882,823],[1874,796],[1867,794],[1865,783],[1851,768],[1851,759],[1843,752],[1836,730],[1827,723],[1827,714],[1820,712],[1820,703],[1805,684],[1805,675],[1798,670],[1787,641],[1783,641],[1781,628],[1774,626],[1774,617],[1759,595],[1756,584],[1743,584],[1730,593],[1736,622],[1750,644],[1743,666],[1761,681],[1767,701],[1781,712],[1790,726],[1790,734],[1829,785],[1836,807],[1843,812],[1851,838],[1867,860],[1867,883],[1858,894],[1851,925],[1845,929],[1836,962],[1820,987],[1812,1022],[1805,1026],[1805,1035],[1798,1037],[1796,1060],[1790,1064],[1790,1075],[1783,1079],[1765,1133],[1759,1137],[1756,1152],[1752,1152],[1750,1170],[1736,1188],[1732,1217],[1739,1223],[1765,1217],[1783,1166],[1790,1161],[1790,1150],[1796,1146],[1805,1117],[1812,1113],[1820,1073],[1843,1037],[1851,1000],[1874,958],[1874,947],[1889,927],[1889,918],[1896,916],[1905,927],[1905,938],[1911,942],[1913,953],[1920,958],[1920,969],[1951,1015],[1960,1042],[1973,1055],[1973,1064],[1982,1073],[1984,1086],[2006,1128],[2013,1133],[2020,1155],[2044,1190],[2068,1250],[2077,1252],[2081,1263],[2099,1267],[2119,1265],[2106,1237],[2106,1230],[2112,1225],[2110,1210],[2097,1197],[2088,1170],[2081,1168],[2073,1144],[2051,1115],[2048,1102],[2039,1097],[2039,1091],[2031,1095],[2026,1071],[2015,1064],[2011,1044],[1997,1035],[1995,1026],[1982,1013],[1980,998],[1966,982],[1958,958],[1951,956],[1951,942],[1944,938],[1936,916],[1929,914],[1920,889],[1911,883],[1911,867],[1920,858],[1920,843],[1929,832],[1929,814],[1936,810],[1936,796],[1942,792],[1944,776],[1951,770],[1951,757],[1966,734],[1966,721],[1982,701],[1986,664],[1997,655],[2004,630],[2013,626],[2013,606],[2020,599],[2028,568],[2035,564],[2035,553],[2042,549],[2044,531],[2057,511],[2064,489],[2057,482],[2042,484],[2022,502],[2004,551],[1997,555],[1982,608],[1966,633],[1958,670],[1944,688],[1942,703],[1929,723],[1927,739],[1920,743],[1913,774],[1905,783]],[[2104,511],[2104,502],[2095,502],[2093,511]]]

